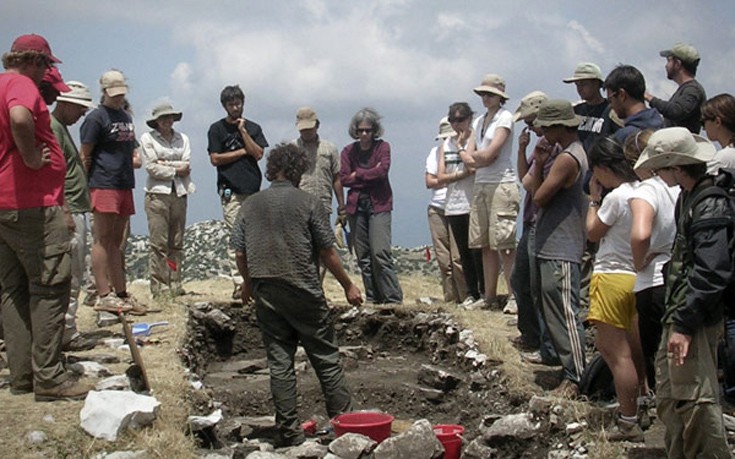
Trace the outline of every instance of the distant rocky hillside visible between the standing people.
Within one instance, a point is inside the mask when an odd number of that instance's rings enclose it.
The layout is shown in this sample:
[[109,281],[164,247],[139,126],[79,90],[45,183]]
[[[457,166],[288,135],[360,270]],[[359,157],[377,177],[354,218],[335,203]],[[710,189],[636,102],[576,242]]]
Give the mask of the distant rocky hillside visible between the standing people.
[[[90,238],[91,240],[91,238]],[[221,220],[207,220],[194,223],[184,233],[183,280],[206,280],[228,277],[227,245],[230,237]],[[131,235],[125,251],[126,272],[129,280],[148,280],[148,236]],[[358,274],[354,256],[341,251],[345,268]],[[426,260],[426,248],[406,249],[393,247],[396,270],[402,274],[436,275],[439,271],[431,253],[431,261]]]

